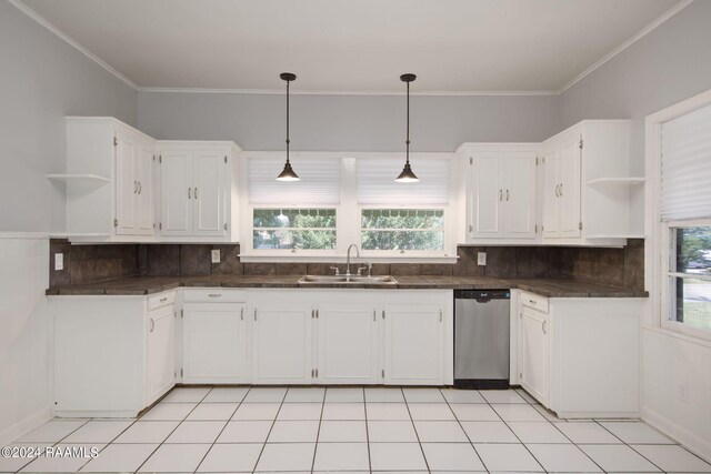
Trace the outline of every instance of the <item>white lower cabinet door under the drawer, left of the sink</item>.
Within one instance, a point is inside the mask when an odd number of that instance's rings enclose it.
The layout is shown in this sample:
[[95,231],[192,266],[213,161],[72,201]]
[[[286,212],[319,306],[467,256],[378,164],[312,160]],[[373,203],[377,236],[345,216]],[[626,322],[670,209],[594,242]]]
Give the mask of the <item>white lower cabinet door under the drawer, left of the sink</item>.
[[244,305],[186,304],[183,383],[247,381]]

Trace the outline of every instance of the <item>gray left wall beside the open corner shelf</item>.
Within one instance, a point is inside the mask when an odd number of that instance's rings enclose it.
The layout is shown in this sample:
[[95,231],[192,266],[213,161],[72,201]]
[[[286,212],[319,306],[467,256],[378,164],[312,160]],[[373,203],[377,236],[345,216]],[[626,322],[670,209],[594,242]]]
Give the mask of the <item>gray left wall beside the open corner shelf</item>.
[[0,1],[0,231],[66,228],[64,115],[136,123],[136,91],[31,18]]

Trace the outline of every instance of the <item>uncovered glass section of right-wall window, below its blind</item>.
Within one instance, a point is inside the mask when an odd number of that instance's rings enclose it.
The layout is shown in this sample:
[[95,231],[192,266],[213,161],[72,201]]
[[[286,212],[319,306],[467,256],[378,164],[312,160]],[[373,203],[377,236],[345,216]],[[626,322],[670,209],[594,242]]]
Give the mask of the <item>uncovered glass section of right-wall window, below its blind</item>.
[[669,232],[669,320],[711,331],[711,221]]

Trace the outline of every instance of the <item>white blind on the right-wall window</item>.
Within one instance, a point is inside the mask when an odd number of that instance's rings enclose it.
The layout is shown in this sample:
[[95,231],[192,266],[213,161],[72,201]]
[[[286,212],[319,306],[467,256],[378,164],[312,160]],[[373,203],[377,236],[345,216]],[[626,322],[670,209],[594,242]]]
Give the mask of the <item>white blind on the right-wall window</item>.
[[661,125],[662,220],[711,218],[711,105]]

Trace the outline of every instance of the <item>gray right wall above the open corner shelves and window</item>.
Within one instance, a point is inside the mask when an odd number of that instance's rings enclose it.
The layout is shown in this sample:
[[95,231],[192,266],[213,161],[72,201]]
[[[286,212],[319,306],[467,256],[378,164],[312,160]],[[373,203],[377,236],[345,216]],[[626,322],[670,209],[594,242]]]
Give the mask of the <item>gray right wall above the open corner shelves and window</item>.
[[644,118],[711,89],[711,1],[698,0],[565,91],[561,128],[632,119],[632,158],[644,172]]

